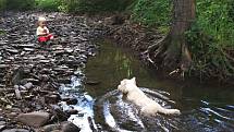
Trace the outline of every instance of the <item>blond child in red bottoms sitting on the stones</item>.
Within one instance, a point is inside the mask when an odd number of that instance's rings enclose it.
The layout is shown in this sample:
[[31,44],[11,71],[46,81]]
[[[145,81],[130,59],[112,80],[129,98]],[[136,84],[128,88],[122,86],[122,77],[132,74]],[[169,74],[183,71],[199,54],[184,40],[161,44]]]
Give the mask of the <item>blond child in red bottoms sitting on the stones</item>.
[[39,43],[47,43],[48,40],[53,39],[53,35],[50,34],[49,29],[46,26],[46,19],[38,19],[38,27],[37,27],[37,39]]

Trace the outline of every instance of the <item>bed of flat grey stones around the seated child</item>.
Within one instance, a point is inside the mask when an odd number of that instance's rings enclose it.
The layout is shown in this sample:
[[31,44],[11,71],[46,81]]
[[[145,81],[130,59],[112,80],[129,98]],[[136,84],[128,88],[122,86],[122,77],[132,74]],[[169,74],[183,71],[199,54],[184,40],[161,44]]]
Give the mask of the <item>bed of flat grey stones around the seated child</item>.
[[[0,20],[0,131],[76,132],[67,122],[70,115],[60,101],[76,104],[75,98],[62,97],[61,84],[79,76],[97,49],[94,38],[102,34],[95,22],[84,16],[62,13],[1,14]],[[48,45],[38,44],[35,32],[38,16],[46,16],[56,39]],[[89,24],[88,24],[89,23]]]

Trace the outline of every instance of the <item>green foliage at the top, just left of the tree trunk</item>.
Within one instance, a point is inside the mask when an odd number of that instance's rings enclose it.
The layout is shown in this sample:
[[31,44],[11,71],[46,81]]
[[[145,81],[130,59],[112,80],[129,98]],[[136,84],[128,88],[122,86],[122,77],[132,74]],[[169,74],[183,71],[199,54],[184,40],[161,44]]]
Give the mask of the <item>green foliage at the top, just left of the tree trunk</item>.
[[162,33],[167,33],[171,10],[170,0],[137,0],[133,5],[132,19],[148,26],[157,26]]

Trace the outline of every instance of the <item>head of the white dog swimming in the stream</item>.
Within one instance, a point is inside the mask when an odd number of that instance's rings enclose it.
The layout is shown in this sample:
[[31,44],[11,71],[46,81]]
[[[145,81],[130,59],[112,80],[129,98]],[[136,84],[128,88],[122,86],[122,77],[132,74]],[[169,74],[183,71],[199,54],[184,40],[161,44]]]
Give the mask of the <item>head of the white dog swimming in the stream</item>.
[[131,80],[124,79],[121,81],[121,84],[118,86],[118,89],[123,94],[127,94],[130,91],[133,91],[136,87],[136,77]]

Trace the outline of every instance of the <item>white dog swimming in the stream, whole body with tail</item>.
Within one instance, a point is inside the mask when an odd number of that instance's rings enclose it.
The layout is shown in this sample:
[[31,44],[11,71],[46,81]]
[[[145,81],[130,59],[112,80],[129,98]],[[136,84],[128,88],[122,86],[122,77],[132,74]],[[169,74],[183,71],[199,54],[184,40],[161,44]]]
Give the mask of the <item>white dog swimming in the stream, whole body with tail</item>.
[[178,109],[165,109],[158,103],[147,97],[143,91],[136,86],[136,79],[123,80],[118,86],[118,89],[126,95],[126,99],[134,103],[140,108],[140,111],[148,116],[153,116],[157,112],[164,115],[180,115]]

